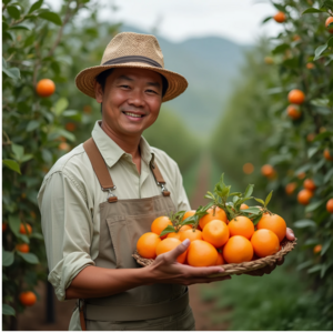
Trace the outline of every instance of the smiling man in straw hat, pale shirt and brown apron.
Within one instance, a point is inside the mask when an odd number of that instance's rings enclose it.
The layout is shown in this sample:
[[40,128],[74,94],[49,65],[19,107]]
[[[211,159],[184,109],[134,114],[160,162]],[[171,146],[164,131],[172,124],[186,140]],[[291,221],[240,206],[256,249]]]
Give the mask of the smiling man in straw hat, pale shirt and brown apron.
[[77,85],[102,104],[102,121],[38,196],[49,281],[59,300],[80,300],[70,330],[194,330],[185,285],[230,279],[208,278],[223,269],[178,264],[188,240],[147,268],[132,258],[155,218],[190,210],[176,163],[141,137],[188,82],[163,68],[153,36],[123,32]]

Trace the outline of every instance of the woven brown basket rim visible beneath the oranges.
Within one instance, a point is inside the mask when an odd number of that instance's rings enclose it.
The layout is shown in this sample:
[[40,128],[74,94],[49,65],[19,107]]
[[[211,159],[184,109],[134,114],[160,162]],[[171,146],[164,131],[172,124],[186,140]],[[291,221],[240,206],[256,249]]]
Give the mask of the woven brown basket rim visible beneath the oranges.
[[[266,266],[269,264],[274,264],[274,263],[276,263],[278,259],[283,258],[284,255],[286,255],[289,252],[291,252],[295,248],[295,245],[297,244],[296,240],[297,239],[295,239],[294,241],[289,241],[289,240],[284,239],[281,242],[282,249],[273,255],[269,255],[265,258],[261,258],[261,259],[249,261],[249,262],[242,262],[242,263],[238,263],[238,264],[221,265],[225,272],[220,273],[220,274],[214,274],[210,278],[232,275],[232,274],[244,274],[244,273],[248,273],[251,271],[263,269],[264,266]],[[135,251],[135,253],[132,256],[137,260],[137,262],[141,266],[148,266],[154,262],[153,259],[142,258],[138,253],[138,251]]]

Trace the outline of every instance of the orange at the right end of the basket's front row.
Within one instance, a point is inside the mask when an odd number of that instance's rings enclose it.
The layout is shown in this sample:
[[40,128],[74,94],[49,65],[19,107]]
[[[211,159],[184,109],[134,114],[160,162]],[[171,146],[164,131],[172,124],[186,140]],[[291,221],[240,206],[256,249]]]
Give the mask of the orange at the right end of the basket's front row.
[[251,238],[251,244],[254,253],[260,258],[272,255],[280,249],[276,234],[268,229],[260,229],[255,231]]

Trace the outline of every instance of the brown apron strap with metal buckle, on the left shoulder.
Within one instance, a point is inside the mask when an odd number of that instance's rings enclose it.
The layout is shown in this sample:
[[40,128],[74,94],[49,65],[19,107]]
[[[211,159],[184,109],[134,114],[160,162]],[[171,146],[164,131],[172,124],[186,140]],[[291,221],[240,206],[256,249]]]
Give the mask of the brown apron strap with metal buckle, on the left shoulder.
[[105,164],[105,161],[99,151],[98,147],[95,145],[92,138],[88,139],[83,143],[83,148],[88,154],[88,158],[92,164],[93,171],[102,186],[103,191],[109,191],[108,201],[109,202],[117,202],[118,198],[112,194],[111,190],[115,190],[113,184],[112,178]]

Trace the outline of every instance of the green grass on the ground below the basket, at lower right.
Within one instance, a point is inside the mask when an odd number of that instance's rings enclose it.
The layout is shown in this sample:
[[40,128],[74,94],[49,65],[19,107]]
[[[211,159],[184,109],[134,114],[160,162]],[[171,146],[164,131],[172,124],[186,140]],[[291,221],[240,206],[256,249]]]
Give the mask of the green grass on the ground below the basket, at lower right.
[[233,275],[230,281],[203,286],[201,292],[203,301],[214,301],[212,322],[226,322],[231,331],[323,331],[333,327],[333,319],[327,321],[321,316],[320,296],[287,263],[270,275]]

